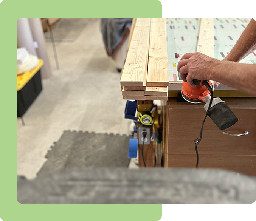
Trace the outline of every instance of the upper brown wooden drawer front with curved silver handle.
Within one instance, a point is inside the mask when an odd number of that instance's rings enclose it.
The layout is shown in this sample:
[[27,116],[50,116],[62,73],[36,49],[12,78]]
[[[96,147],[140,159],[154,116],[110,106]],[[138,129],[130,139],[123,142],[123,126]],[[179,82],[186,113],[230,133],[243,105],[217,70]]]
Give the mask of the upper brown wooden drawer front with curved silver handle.
[[[207,117],[203,128],[203,138],[198,145],[200,154],[220,155],[256,155],[256,109],[234,109],[238,122],[224,130],[228,136]],[[169,109],[169,144],[168,154],[194,154],[194,140],[200,137],[200,128],[205,110]]]

